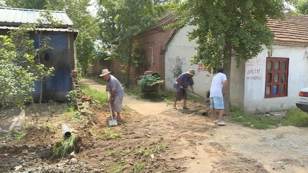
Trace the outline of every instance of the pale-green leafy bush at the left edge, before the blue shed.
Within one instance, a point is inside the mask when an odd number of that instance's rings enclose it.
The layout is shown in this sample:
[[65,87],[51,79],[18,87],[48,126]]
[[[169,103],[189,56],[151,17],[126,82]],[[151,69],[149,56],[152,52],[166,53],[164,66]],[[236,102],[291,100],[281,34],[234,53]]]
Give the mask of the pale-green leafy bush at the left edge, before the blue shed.
[[[21,63],[22,62],[22,63]],[[23,106],[33,92],[34,74],[23,65],[34,63],[34,56],[20,53],[8,36],[0,35],[0,103],[3,112],[11,103]]]

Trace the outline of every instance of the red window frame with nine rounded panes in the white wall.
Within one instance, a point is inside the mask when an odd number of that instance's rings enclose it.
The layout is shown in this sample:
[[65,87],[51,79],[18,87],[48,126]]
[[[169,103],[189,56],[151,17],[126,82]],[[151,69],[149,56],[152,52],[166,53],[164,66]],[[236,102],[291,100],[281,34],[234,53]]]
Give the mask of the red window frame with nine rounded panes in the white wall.
[[[268,70],[268,62],[272,61],[272,68]],[[275,62],[279,61],[279,69],[275,70]],[[286,61],[286,69],[282,70],[282,62]],[[271,73],[271,79],[269,78],[269,73]],[[274,75],[278,73],[278,81],[274,81]],[[282,74],[285,73],[285,81],[282,81]],[[265,67],[265,92],[264,98],[274,98],[274,97],[286,97],[288,96],[288,78],[289,78],[289,58],[278,58],[278,57],[266,57],[266,67]],[[277,93],[274,94],[274,86],[277,85]],[[284,85],[284,92],[281,93],[281,86]],[[266,87],[270,86],[270,94],[266,94]]]

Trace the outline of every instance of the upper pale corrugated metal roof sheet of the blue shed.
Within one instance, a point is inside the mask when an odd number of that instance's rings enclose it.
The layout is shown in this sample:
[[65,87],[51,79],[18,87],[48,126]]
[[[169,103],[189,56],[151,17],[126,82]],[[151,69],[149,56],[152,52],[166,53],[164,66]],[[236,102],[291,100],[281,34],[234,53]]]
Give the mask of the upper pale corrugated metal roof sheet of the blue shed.
[[[39,13],[41,11],[42,10],[0,7],[0,26],[20,26],[23,23],[34,24],[36,20],[40,18]],[[65,11],[51,11],[51,14],[58,21],[63,21],[57,28],[73,27],[73,22]]]

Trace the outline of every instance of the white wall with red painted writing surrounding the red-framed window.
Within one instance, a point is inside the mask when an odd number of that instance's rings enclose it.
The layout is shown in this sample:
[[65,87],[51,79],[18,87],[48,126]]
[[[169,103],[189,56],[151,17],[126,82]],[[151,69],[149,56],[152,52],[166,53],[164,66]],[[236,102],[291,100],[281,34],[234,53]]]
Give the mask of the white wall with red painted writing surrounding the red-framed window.
[[[267,49],[263,45],[263,52],[245,64],[245,96],[244,111],[262,112],[280,111],[295,107],[298,92],[308,86],[308,59],[304,59],[305,47],[274,45],[272,57],[289,58],[288,96],[277,98],[264,98],[265,68]],[[260,69],[260,73],[248,74],[250,69]],[[251,77],[257,77],[251,79]]]

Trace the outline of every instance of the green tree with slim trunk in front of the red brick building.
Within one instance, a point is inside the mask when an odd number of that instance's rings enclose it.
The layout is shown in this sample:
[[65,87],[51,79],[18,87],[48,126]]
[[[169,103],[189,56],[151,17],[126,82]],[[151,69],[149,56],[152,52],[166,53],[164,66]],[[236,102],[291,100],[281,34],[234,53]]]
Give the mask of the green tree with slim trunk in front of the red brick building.
[[153,2],[148,0],[100,0],[98,5],[100,9],[98,14],[104,19],[102,25],[108,25],[103,27],[103,33],[107,36],[106,41],[110,42],[116,38],[119,43],[112,57],[125,64],[125,86],[128,87],[134,36],[156,23]]

